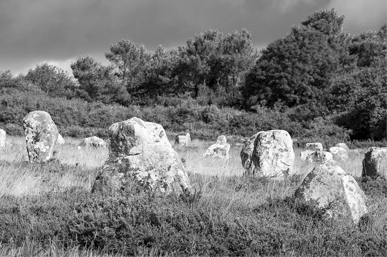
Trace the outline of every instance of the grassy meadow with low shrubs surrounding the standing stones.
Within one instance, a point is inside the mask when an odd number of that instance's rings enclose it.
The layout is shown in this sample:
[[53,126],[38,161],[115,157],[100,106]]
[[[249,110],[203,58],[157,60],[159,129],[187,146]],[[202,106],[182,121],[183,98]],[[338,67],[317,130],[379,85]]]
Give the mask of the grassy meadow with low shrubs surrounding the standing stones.
[[243,177],[240,150],[203,158],[213,142],[171,144],[193,190],[182,196],[135,192],[93,195],[108,149],[65,137],[54,158],[28,163],[24,138],[0,149],[1,256],[386,256],[386,183],[361,178],[366,149],[339,165],[358,181],[369,214],[359,224],[325,219],[293,194],[314,165],[300,160],[284,180]]

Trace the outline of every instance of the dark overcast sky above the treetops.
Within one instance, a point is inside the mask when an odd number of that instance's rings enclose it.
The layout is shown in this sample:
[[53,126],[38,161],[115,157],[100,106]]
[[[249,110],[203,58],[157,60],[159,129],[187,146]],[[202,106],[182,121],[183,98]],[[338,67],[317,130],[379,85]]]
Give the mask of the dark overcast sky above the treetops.
[[386,0],[0,0],[0,70],[14,75],[50,62],[71,73],[87,53],[107,65],[109,46],[128,38],[171,48],[208,27],[242,28],[262,48],[320,9],[344,15],[344,30],[378,30]]

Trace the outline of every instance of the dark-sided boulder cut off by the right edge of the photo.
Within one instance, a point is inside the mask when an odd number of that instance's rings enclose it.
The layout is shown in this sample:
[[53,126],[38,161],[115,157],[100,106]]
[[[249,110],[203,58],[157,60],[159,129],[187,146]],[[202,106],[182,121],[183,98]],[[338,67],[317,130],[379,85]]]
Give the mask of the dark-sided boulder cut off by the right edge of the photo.
[[370,147],[364,154],[362,176],[387,179],[387,147]]

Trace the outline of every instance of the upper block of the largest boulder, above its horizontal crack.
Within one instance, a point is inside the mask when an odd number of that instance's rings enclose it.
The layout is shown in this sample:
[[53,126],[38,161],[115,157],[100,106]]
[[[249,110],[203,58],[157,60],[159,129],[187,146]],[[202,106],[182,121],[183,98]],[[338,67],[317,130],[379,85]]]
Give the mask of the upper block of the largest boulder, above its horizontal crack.
[[124,157],[130,149],[142,144],[171,146],[163,126],[137,117],[114,123],[109,128],[109,157]]

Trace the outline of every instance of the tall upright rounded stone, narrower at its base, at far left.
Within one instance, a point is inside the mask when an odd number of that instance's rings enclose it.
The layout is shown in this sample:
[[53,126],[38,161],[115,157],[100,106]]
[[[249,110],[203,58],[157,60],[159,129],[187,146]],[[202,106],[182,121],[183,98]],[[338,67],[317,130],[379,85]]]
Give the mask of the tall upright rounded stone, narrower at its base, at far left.
[[27,153],[30,162],[50,160],[58,139],[57,125],[45,111],[33,111],[23,119]]

